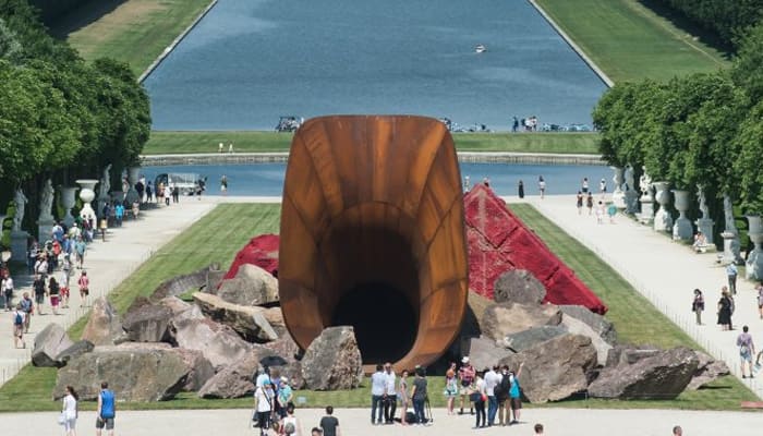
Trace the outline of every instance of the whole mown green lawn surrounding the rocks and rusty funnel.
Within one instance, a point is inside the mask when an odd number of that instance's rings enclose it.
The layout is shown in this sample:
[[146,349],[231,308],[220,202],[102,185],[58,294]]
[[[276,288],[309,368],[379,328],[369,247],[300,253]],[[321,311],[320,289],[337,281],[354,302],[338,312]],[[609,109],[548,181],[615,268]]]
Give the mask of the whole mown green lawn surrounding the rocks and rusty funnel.
[[[567,235],[545,219],[534,208],[526,205],[512,206],[522,219],[530,222],[537,234],[572,267],[583,281],[591,287],[610,307],[607,315],[619,331],[623,341],[656,343],[664,347],[685,344],[698,346],[677,326],[657,312],[646,300],[616,271],[589,250]],[[110,295],[111,302],[124,312],[138,295],[152,292],[161,281],[179,274],[186,274],[211,262],[228,265],[235,252],[253,234],[278,231],[278,205],[220,205],[193,227],[178,235],[135,274],[124,280]],[[222,243],[221,241],[225,241]],[[157,262],[158,261],[158,262]],[[78,338],[85,320],[72,326],[70,334]],[[56,383],[56,371],[26,366],[8,384],[0,388],[1,411],[57,410],[58,402],[50,400]],[[431,378],[433,405],[444,405],[441,377]],[[367,387],[352,391],[316,392],[300,391],[306,404],[319,407],[332,403],[336,407],[365,407]],[[561,401],[552,407],[573,408],[667,408],[735,410],[742,400],[754,396],[734,377],[724,377],[713,384],[712,389],[703,389],[681,395],[670,401]],[[84,403],[84,409],[95,404]],[[122,409],[215,409],[249,408],[250,399],[202,400],[193,393],[183,393],[175,400],[158,403],[126,403]]]

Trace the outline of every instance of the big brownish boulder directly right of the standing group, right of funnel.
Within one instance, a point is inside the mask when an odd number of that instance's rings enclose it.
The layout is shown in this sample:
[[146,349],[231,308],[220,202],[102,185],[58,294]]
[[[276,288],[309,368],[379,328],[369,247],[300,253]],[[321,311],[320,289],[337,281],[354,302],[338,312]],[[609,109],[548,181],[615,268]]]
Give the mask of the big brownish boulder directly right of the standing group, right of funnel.
[[585,389],[596,366],[596,349],[591,339],[568,334],[500,361],[514,371],[521,363],[524,367],[519,382],[526,399],[533,403],[557,401]]

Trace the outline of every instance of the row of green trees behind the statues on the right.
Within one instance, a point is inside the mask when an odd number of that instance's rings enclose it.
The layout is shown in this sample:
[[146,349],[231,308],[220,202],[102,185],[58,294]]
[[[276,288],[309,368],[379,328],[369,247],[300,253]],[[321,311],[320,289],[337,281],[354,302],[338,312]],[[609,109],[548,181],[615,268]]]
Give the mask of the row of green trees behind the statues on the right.
[[744,214],[763,214],[762,97],[763,23],[730,70],[615,85],[593,113],[600,148],[611,165],[643,166],[653,180],[704,186],[711,210],[728,194]]

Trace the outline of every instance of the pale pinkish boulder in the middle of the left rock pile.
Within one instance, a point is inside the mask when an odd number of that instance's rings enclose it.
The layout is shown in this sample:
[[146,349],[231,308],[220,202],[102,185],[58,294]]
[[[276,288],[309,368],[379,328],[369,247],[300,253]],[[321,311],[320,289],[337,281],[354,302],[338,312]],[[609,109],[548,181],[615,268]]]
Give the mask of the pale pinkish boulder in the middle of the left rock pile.
[[215,371],[242,359],[252,349],[232,328],[211,319],[173,319],[171,335],[178,347],[201,351]]

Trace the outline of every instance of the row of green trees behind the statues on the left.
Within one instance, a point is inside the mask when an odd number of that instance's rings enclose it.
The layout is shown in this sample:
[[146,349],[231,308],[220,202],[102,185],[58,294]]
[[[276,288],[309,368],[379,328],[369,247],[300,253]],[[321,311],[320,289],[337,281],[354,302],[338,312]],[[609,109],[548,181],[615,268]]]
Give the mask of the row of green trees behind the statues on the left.
[[[0,207],[16,186],[37,217],[37,192],[138,162],[148,140],[148,97],[126,64],[85,62],[50,37],[26,0],[0,0]],[[32,222],[27,223],[27,228]]]

